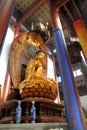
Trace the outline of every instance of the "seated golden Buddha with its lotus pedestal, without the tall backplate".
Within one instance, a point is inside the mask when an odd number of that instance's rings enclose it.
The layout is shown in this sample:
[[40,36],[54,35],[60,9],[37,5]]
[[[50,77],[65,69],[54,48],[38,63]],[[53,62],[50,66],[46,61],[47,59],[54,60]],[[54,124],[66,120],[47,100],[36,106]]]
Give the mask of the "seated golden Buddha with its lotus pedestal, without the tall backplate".
[[47,55],[42,50],[38,50],[35,58],[29,60],[25,80],[19,84],[19,93],[22,98],[56,99],[57,83],[47,78]]

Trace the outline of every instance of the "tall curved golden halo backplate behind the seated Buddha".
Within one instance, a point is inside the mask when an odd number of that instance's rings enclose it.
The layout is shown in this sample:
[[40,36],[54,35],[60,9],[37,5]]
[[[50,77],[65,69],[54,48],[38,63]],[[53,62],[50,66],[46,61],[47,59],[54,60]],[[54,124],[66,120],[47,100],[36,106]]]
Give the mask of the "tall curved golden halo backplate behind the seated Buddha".
[[47,51],[46,45],[38,33],[27,32],[20,34],[14,39],[9,56],[9,70],[15,88],[18,88],[18,85],[21,82],[22,64],[27,64],[27,61],[33,58],[34,51],[39,50],[40,48],[44,52]]

